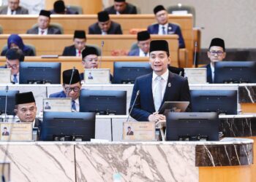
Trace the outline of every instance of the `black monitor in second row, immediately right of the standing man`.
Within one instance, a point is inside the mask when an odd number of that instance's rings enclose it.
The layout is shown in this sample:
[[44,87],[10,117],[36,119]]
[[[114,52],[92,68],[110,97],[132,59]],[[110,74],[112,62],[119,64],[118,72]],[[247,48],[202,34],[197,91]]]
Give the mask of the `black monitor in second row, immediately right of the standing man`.
[[190,90],[193,112],[237,114],[237,90]]

